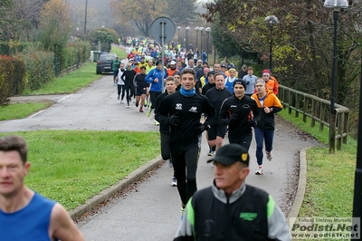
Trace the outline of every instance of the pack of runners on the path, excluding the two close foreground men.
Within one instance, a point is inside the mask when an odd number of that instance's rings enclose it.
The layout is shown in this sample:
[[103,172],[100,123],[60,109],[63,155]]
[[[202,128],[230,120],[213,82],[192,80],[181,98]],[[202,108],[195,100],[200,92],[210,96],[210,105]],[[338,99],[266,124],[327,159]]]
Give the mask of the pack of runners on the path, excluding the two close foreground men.
[[[200,53],[192,45],[188,49],[178,43],[160,46],[148,39],[130,39],[126,45],[128,63],[113,63],[118,100],[122,104],[126,100],[128,108],[132,102],[139,112],[147,109],[148,117],[155,111],[152,120],[160,125],[162,158],[174,169],[172,186],[181,198],[182,219],[197,190],[196,169],[204,131],[210,157],[217,157],[225,136],[230,144],[249,153],[253,132],[258,163],[255,174],[263,174],[264,156],[272,159],[274,114],[282,109],[277,97],[279,84],[271,70],[265,69],[262,78],[257,78],[252,66],[245,64],[240,71],[226,61],[209,66],[205,51]],[[223,161],[215,164],[220,167],[220,163]],[[179,229],[178,235],[190,234]]]

